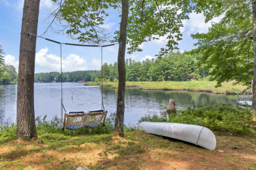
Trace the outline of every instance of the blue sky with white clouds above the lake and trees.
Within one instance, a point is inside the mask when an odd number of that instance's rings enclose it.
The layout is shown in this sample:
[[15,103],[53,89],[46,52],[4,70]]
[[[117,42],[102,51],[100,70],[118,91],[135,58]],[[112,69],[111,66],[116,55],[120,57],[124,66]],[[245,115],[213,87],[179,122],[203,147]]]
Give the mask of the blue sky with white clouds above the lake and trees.
[[[22,12],[24,0],[0,0],[0,45],[5,52],[5,64],[14,65],[18,71],[19,48],[20,48],[20,31],[22,25]],[[39,22],[37,35],[41,35],[47,29],[49,20],[47,20],[50,12],[53,10],[51,0],[41,0],[39,10]],[[117,14],[112,13],[104,27],[110,33],[119,29],[120,18]],[[196,48],[190,35],[193,33],[207,33],[211,22],[219,22],[221,17],[214,18],[205,24],[203,14],[189,14],[190,20],[184,20],[184,27],[181,28],[183,33],[182,41],[179,41],[179,51],[192,50]],[[53,39],[58,42],[79,43],[72,40],[67,35],[60,35],[47,32],[43,37]],[[106,44],[110,44],[106,42]],[[163,39],[144,42],[140,47],[142,52],[134,54],[126,54],[125,58],[131,58],[135,61],[142,61],[146,58],[156,59],[156,54],[160,52],[160,48],[164,47]],[[118,45],[103,48],[103,62],[114,63],[117,61]],[[100,69],[101,50],[98,47],[68,46],[62,45],[62,71],[79,71],[79,70],[99,70]],[[50,71],[60,71],[60,44],[37,38],[36,54],[35,54],[35,73],[47,73]]]

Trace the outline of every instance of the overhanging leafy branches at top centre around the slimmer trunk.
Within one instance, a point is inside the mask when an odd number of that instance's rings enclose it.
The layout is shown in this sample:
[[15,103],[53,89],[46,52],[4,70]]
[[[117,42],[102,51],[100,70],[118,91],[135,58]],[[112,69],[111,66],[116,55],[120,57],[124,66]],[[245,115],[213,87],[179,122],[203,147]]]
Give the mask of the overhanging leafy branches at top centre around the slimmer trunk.
[[[65,33],[79,42],[101,44],[106,41],[118,42],[119,30],[114,35],[104,27],[111,14],[121,16],[120,1],[117,0],[74,0],[55,1],[59,10],[53,12],[54,19],[62,25]],[[127,21],[127,48],[131,54],[142,51],[140,44],[154,39],[165,39],[165,48],[159,56],[177,49],[177,41],[182,39],[182,20],[188,19],[191,12],[189,1],[129,1]],[[156,52],[157,53],[157,52]]]

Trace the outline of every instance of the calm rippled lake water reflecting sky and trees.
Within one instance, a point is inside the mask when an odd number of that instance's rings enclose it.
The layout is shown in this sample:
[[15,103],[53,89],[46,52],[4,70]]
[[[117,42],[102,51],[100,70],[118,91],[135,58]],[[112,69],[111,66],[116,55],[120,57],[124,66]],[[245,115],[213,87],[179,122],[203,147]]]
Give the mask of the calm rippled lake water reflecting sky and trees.
[[[63,83],[64,107],[68,112],[100,109],[100,86],[83,86],[83,84],[83,82]],[[8,118],[16,122],[16,89],[16,85],[0,85],[0,122]],[[116,112],[117,89],[104,88],[103,97],[105,109],[109,113]],[[127,88],[125,90],[125,124],[137,124],[139,118],[145,114],[160,114],[161,107],[168,105],[170,98],[176,101],[178,110],[204,103],[236,105],[236,95]],[[35,116],[45,115],[47,120],[51,120],[54,115],[60,118],[60,83],[35,83]]]

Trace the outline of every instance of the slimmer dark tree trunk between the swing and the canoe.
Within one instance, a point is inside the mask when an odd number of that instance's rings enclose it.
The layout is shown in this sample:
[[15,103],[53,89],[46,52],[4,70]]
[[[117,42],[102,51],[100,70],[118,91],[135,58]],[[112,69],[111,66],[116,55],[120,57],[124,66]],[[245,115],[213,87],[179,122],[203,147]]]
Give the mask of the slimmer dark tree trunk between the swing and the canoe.
[[117,92],[117,110],[114,135],[123,137],[123,117],[125,114],[125,48],[126,48],[126,28],[129,13],[128,0],[122,0],[122,16],[120,23],[120,37],[118,49],[118,75],[119,84]]

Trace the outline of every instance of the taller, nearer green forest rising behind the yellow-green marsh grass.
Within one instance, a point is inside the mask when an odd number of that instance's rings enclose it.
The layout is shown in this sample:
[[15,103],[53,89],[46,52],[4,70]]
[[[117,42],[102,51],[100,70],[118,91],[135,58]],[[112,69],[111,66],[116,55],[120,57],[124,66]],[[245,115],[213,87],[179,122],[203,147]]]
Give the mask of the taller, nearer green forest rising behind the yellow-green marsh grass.
[[[198,67],[200,54],[188,54],[188,52],[170,52],[157,59],[145,59],[135,61],[131,58],[125,60],[126,80],[143,81],[188,81],[207,76],[209,71],[202,71]],[[102,67],[103,78],[108,81],[118,79],[117,63],[104,63]]]

